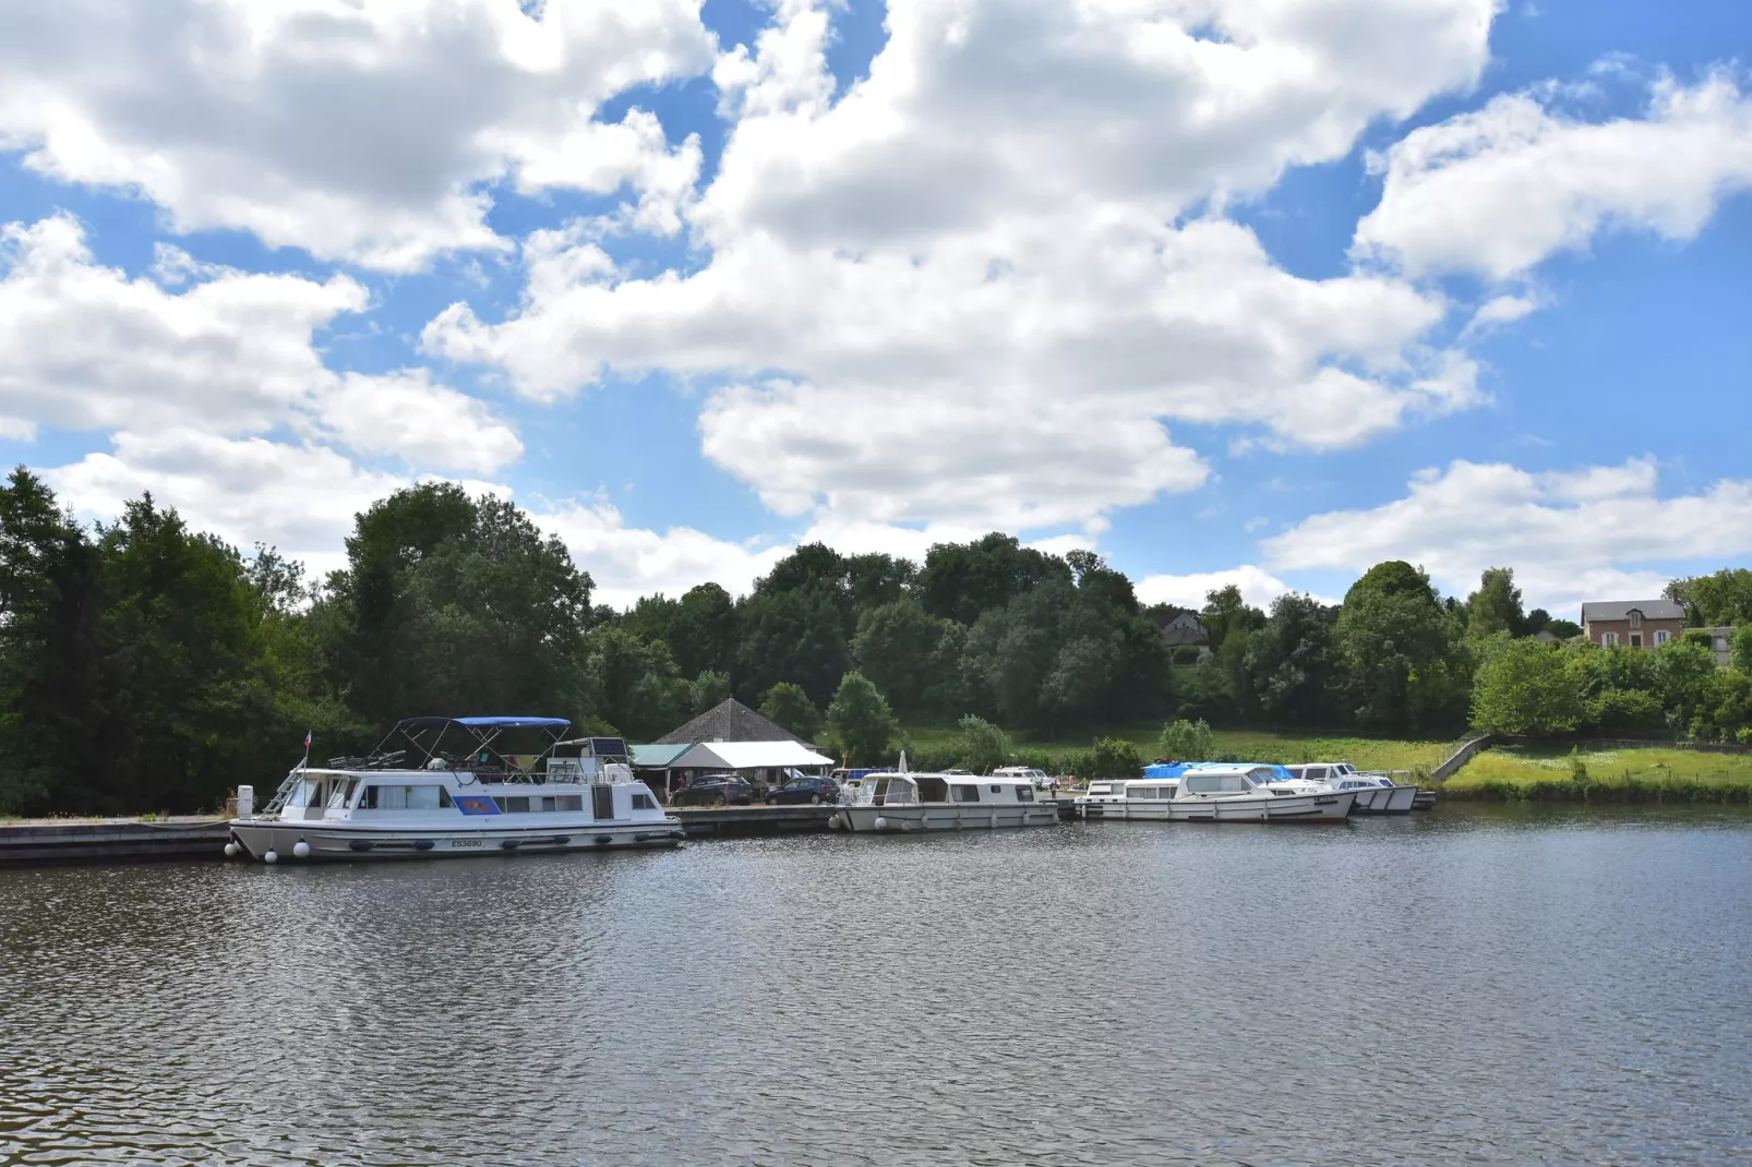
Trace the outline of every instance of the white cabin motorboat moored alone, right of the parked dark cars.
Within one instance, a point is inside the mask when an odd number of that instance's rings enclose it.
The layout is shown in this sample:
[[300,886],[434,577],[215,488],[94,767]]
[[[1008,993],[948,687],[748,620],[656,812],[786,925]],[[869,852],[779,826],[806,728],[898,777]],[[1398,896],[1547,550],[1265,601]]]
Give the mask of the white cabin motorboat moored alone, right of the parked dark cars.
[[881,771],[865,774],[827,825],[839,831],[995,831],[1051,827],[1058,804],[1028,778]]

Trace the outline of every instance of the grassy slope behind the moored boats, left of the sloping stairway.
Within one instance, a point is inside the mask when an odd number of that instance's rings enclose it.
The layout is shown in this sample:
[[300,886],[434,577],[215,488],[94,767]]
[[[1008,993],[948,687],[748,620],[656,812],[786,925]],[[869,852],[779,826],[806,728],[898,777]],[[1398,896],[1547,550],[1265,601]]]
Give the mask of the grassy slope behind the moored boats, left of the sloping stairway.
[[[950,753],[957,731],[950,727],[915,727],[908,731],[920,753]],[[1095,738],[1121,738],[1149,760],[1156,755],[1160,725],[1128,725],[1076,738],[1037,739],[1011,734],[1013,746],[1027,755],[1044,755],[1056,762],[1069,753],[1088,750]],[[1381,738],[1333,738],[1319,734],[1272,732],[1256,729],[1218,729],[1218,753],[1247,762],[1354,762],[1358,769],[1405,769],[1428,773],[1452,752],[1445,741],[1396,741]]]

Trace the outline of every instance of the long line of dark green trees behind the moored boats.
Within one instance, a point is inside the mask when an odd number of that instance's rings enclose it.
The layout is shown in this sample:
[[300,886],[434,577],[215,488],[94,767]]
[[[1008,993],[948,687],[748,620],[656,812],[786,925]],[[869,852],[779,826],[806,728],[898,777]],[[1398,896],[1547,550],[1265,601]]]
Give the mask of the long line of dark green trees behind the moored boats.
[[[1142,605],[1091,552],[995,533],[918,564],[806,545],[746,596],[701,584],[618,612],[515,505],[436,482],[359,513],[345,554],[312,580],[151,496],[86,526],[16,470],[0,485],[0,813],[210,808],[272,783],[307,731],[324,759],[408,715],[534,711],[650,741],[727,696],[867,764],[894,759],[902,725],[964,718],[971,739],[979,724],[1063,738],[1176,718],[1445,734],[1507,727],[1503,708],[1538,710],[1515,715],[1528,732],[1733,736],[1748,720],[1727,680],[1684,680],[1701,657],[1675,647],[1542,647],[1580,678],[1549,711],[1545,680],[1526,678],[1554,666],[1528,664],[1526,638],[1577,629],[1524,613],[1508,569],[1465,599],[1396,561],[1335,606],[1260,610],[1226,587],[1198,612],[1209,645],[1170,648],[1181,608]],[[1752,624],[1752,573],[1675,587],[1699,622]]]

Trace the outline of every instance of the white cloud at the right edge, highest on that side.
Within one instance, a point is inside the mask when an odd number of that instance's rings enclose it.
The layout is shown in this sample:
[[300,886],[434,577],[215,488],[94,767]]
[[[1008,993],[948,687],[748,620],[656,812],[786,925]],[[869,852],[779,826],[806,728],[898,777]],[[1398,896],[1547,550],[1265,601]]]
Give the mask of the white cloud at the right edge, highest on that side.
[[1752,186],[1752,100],[1726,72],[1654,84],[1643,117],[1586,123],[1531,93],[1414,130],[1388,151],[1356,252],[1412,275],[1508,279],[1605,230],[1689,240]]

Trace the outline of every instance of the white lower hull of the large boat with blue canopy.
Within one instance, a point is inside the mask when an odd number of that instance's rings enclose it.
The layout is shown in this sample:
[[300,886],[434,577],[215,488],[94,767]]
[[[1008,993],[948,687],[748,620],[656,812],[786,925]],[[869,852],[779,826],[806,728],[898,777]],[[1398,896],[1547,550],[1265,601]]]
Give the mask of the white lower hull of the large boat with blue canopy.
[[[277,860],[319,862],[352,859],[478,859],[534,852],[603,852],[676,846],[682,822],[585,822],[540,827],[496,827],[487,831],[349,825],[233,818],[231,838],[252,859],[273,852]],[[308,855],[298,855],[298,843]]]

